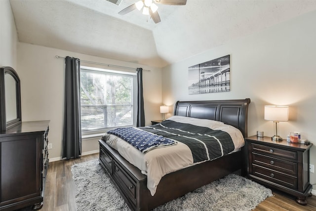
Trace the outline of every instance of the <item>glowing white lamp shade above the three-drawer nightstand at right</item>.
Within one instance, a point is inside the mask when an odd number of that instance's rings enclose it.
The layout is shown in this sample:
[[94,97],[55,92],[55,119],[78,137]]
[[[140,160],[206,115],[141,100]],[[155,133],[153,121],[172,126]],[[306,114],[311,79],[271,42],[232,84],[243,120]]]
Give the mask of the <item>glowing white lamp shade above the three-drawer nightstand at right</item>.
[[265,106],[265,120],[276,122],[288,121],[288,106]]

